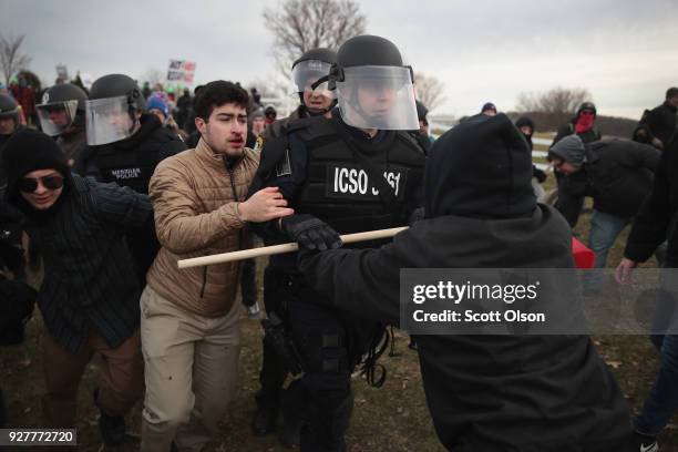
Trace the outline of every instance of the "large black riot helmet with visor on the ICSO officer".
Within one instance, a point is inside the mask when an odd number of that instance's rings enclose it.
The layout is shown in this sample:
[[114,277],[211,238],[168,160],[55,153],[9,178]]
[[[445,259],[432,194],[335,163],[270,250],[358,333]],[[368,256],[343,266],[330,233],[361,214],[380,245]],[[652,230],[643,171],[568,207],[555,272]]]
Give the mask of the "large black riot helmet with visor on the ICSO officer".
[[413,83],[396,44],[374,35],[341,44],[329,75],[341,117],[360,129],[418,130]]

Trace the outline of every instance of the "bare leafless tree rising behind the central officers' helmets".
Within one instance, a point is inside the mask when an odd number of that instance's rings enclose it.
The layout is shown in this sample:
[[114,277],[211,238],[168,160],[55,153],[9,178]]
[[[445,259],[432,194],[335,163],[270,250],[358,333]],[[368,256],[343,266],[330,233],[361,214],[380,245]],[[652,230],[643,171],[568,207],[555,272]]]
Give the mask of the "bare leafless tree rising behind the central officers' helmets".
[[364,32],[367,17],[351,0],[284,0],[278,9],[264,9],[264,24],[276,37],[273,45],[278,69],[288,78],[291,63],[316,48],[338,49]]

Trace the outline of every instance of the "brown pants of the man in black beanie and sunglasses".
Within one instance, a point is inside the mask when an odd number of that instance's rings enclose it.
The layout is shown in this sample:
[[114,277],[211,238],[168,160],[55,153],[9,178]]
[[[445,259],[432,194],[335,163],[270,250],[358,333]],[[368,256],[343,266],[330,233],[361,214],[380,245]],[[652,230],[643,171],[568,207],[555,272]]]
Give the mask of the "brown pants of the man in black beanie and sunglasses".
[[56,343],[44,329],[42,353],[47,394],[41,403],[49,427],[75,427],[78,386],[94,353],[100,353],[104,361],[101,369],[103,382],[96,402],[107,414],[124,415],[144,392],[138,330],[115,349],[92,331],[82,350],[74,355]]

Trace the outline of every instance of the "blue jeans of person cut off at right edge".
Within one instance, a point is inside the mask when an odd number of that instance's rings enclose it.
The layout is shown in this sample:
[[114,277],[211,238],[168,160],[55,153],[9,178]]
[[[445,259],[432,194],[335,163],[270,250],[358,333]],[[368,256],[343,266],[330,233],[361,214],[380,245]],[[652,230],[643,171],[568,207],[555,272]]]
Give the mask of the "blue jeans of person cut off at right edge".
[[678,409],[678,336],[653,336],[661,353],[661,368],[645,400],[643,411],[634,419],[636,431],[656,436]]

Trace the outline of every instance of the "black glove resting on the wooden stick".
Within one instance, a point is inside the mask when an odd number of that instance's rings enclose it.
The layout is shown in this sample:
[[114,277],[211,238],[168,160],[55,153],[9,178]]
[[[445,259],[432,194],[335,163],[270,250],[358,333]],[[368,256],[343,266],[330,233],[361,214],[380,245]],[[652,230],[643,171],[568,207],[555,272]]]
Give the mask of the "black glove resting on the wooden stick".
[[342,243],[339,234],[327,223],[309,214],[291,215],[280,222],[281,229],[306,249],[335,249]]

